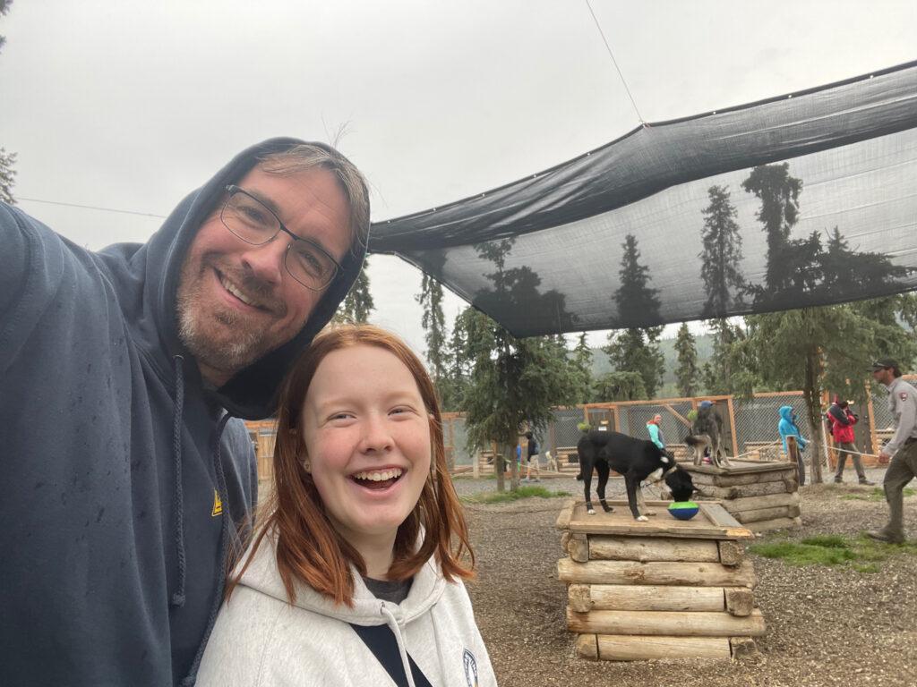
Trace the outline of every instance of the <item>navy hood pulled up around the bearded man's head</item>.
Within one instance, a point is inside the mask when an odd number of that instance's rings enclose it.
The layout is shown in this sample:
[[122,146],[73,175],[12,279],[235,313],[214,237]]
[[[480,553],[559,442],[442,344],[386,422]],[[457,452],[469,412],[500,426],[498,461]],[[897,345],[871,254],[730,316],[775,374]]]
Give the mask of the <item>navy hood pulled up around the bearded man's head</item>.
[[[119,244],[100,252],[113,278],[120,282],[122,308],[135,311],[138,338],[150,362],[164,379],[171,379],[171,358],[182,355],[193,360],[178,337],[175,298],[182,260],[204,223],[224,197],[226,184],[238,183],[260,158],[306,143],[297,138],[271,138],[239,153],[204,186],[192,191],[172,211],[160,230],[144,245]],[[322,143],[309,145],[331,149]],[[365,247],[355,245],[341,260],[341,273],[326,290],[304,327],[293,339],[240,370],[223,387],[208,392],[232,415],[244,420],[260,420],[274,412],[283,376],[337,310],[366,255]],[[149,345],[143,345],[149,344]],[[186,369],[192,365],[185,364]],[[196,365],[193,366],[196,370]],[[197,373],[199,376],[199,373]]]

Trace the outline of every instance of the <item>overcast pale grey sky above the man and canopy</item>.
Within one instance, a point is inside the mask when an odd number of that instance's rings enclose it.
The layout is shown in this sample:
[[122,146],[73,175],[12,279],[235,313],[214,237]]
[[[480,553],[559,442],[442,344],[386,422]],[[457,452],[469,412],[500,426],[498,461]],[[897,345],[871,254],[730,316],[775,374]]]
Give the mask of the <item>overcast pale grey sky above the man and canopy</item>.
[[[649,122],[917,59],[913,0],[591,0]],[[26,212],[143,241],[243,147],[330,140],[375,221],[488,191],[638,125],[586,0],[14,0],[0,146]],[[373,322],[423,353],[420,274],[371,259]],[[451,323],[463,306],[447,299]],[[592,337],[601,344],[602,337]]]

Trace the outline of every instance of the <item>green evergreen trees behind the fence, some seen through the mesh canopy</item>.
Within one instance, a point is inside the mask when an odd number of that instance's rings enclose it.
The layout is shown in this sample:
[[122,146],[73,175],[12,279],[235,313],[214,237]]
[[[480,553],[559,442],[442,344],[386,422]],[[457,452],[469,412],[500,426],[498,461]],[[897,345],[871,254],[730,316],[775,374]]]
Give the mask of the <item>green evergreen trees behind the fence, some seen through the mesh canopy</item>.
[[[890,356],[910,367],[917,355],[917,297],[904,294],[767,312],[819,291],[835,298],[862,298],[870,285],[898,277],[905,268],[893,266],[888,256],[851,251],[837,227],[826,245],[817,233],[791,239],[802,182],[790,176],[787,163],[753,169],[742,187],[761,202],[756,217],[768,240],[765,282],[751,284],[744,278],[735,207],[728,189],[712,186],[709,205],[702,211],[699,257],[713,354],[700,365],[695,338],[682,323],[675,341],[677,395],[751,398],[756,392],[801,388],[807,420],[817,427],[822,417],[821,392],[862,402],[871,360]],[[476,247],[482,255],[494,255],[495,295],[511,290],[502,289],[503,282],[526,277],[516,274],[518,270],[504,269],[512,240]],[[658,322],[657,289],[650,285],[648,268],[640,263],[635,235],[628,234],[622,248],[620,286],[611,299],[628,322]],[[355,289],[366,289],[367,297],[358,300],[370,302],[371,309],[368,280],[361,280]],[[425,276],[416,300],[423,309],[426,359],[442,408],[466,413],[470,445],[496,442],[504,455],[511,455],[522,431],[547,427],[552,407],[658,398],[665,372],[660,326],[610,333],[602,351],[613,371],[592,378],[592,351],[585,333],[572,348],[562,335],[516,339],[469,307],[458,315],[447,336],[442,299],[442,287]],[[743,305],[766,312],[744,318],[722,316]],[[368,311],[363,314],[365,320]],[[342,317],[361,321],[352,308]],[[813,454],[820,455],[820,435],[813,432],[812,440]],[[820,482],[816,463],[812,479]],[[515,486],[515,461],[511,464]],[[498,488],[503,488],[500,470]]]

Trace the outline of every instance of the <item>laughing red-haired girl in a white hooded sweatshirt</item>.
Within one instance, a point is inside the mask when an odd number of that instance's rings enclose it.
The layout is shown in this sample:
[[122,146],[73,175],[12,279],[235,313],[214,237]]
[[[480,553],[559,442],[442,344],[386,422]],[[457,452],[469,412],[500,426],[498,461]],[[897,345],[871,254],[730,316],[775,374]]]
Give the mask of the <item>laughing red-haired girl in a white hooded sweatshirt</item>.
[[391,333],[338,327],[281,393],[274,493],[197,684],[496,684],[420,360]]

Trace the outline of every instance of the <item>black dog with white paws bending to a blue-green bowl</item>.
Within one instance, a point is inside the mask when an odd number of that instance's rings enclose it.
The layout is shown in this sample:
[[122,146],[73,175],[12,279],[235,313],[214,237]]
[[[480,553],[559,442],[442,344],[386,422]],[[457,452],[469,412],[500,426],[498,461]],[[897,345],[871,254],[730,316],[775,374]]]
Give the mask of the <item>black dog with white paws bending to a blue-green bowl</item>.
[[640,483],[663,482],[663,488],[676,501],[688,501],[694,493],[691,474],[679,467],[674,458],[655,443],[621,434],[617,431],[589,431],[580,438],[576,446],[580,454],[580,477],[586,492],[586,510],[592,508],[590,487],[592,469],[599,474],[599,502],[606,512],[612,507],[605,501],[605,485],[610,470],[624,476],[627,488],[627,503],[635,520],[646,520],[646,501],[640,491]]

